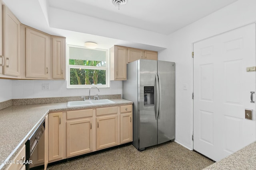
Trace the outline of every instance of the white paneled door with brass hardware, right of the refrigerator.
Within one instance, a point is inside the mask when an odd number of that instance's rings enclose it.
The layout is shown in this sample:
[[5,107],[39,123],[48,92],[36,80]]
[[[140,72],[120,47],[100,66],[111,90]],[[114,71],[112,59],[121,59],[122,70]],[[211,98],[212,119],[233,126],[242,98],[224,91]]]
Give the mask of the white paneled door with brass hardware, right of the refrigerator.
[[255,31],[251,24],[194,43],[194,150],[215,161],[256,140],[256,72],[246,72],[256,66]]

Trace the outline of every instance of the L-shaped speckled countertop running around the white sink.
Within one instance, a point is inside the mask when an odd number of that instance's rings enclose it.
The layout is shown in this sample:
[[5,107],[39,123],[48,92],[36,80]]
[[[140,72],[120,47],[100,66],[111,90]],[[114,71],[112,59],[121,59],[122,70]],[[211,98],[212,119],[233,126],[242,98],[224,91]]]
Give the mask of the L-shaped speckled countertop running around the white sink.
[[[49,112],[132,104],[124,99],[111,99],[113,104],[86,107],[67,107],[67,103],[10,106],[0,110],[0,160],[12,160],[25,145]],[[8,165],[1,164],[0,169]]]

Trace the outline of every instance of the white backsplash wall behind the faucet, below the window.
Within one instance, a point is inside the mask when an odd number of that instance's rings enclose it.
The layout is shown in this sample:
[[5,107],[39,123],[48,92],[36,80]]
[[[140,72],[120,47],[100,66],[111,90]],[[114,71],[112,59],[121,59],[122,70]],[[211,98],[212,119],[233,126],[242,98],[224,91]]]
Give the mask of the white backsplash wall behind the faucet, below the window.
[[[1,79],[0,79],[1,80]],[[49,84],[50,90],[42,90]],[[12,80],[12,99],[89,96],[89,88],[67,89],[66,80]],[[110,81],[110,88],[92,89],[92,95],[122,94],[122,81]]]

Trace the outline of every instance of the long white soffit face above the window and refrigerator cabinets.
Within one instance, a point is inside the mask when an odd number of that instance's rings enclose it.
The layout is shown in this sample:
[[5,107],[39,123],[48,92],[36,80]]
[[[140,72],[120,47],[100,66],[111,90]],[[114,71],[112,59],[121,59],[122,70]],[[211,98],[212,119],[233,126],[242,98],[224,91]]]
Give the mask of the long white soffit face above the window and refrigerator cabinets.
[[54,28],[67,29],[156,47],[166,48],[167,45],[166,35],[130,27],[128,25],[84,16],[82,14],[52,7],[49,8],[48,16],[49,25]]

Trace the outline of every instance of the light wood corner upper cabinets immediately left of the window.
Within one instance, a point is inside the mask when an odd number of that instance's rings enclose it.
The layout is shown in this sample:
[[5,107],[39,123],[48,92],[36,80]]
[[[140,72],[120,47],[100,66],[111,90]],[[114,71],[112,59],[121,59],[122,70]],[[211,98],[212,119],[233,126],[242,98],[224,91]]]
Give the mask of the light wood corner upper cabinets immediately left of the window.
[[65,80],[66,38],[20,26],[22,79]]

